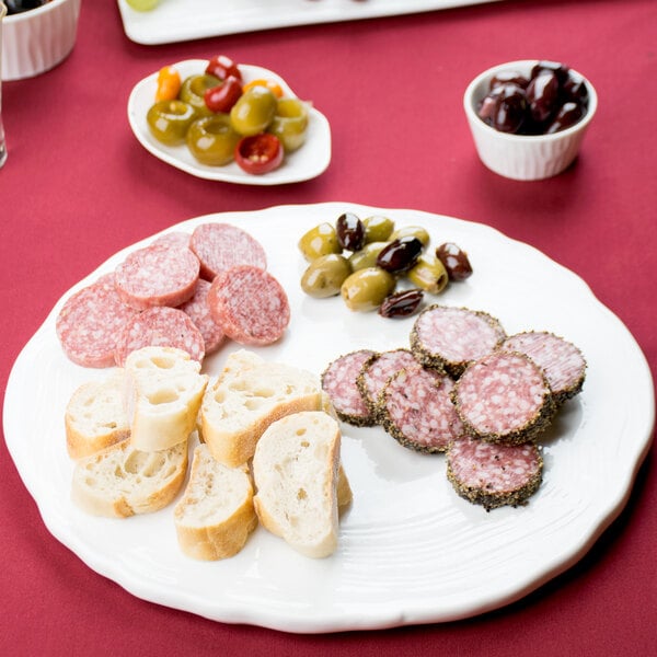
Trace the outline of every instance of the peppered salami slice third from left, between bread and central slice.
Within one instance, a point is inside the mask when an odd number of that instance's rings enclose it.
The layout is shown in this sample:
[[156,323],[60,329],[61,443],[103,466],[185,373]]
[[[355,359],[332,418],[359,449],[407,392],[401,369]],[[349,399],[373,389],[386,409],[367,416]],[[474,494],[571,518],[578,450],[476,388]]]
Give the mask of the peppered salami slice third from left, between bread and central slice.
[[383,428],[401,445],[420,452],[443,452],[464,434],[451,403],[453,381],[419,365],[401,370],[382,393]]

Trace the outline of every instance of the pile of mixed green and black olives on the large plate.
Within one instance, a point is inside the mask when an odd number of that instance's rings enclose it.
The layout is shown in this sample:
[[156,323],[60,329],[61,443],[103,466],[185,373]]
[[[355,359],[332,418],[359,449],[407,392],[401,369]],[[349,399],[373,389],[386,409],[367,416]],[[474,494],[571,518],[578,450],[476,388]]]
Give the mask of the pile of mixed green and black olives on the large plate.
[[[320,223],[299,240],[310,263],[301,288],[316,299],[342,295],[349,310],[407,316],[419,308],[425,292],[438,295],[450,280],[472,274],[458,245],[447,242],[434,253],[428,246],[429,233],[419,226],[395,229],[388,217],[361,220],[345,212],[335,224]],[[413,287],[396,291],[402,278]]]

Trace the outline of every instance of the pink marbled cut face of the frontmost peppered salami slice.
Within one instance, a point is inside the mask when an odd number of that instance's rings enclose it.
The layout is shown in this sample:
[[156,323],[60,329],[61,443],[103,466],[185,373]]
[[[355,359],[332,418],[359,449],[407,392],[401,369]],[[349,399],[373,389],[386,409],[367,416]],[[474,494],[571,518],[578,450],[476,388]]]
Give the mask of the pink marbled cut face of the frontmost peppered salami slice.
[[485,494],[509,495],[525,488],[541,473],[537,446],[494,445],[464,437],[450,445],[448,466],[458,486]]

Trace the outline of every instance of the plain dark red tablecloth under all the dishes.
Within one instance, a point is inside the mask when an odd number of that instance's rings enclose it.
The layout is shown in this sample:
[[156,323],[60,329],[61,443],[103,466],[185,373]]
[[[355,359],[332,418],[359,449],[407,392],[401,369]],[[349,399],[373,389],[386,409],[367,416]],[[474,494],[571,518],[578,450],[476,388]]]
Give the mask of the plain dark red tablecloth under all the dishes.
[[[146,47],[125,36],[115,2],[83,2],[72,55],[2,89],[2,390],[54,303],[116,251],[207,212],[325,200],[450,215],[537,246],[621,318],[655,374],[656,36],[653,0],[518,0]],[[208,182],[139,146],[126,118],[132,85],[218,51],[279,72],[327,116],[323,175],[280,187]],[[575,166],[511,182],[477,160],[461,97],[481,70],[533,57],[583,71],[600,106]],[[647,655],[657,646],[654,463],[652,451],[625,509],[576,565],[509,607],[303,636],[159,607],[95,574],[48,533],[2,441],[0,653]]]

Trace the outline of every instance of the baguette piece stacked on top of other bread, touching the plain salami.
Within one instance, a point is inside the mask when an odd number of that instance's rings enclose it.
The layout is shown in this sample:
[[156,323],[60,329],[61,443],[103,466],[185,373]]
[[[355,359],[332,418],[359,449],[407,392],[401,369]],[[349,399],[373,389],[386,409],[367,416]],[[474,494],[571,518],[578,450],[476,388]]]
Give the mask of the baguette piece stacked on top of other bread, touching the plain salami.
[[142,347],[126,359],[130,442],[141,451],[185,442],[208,384],[200,364],[175,347]]

